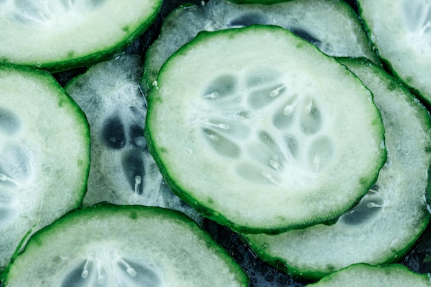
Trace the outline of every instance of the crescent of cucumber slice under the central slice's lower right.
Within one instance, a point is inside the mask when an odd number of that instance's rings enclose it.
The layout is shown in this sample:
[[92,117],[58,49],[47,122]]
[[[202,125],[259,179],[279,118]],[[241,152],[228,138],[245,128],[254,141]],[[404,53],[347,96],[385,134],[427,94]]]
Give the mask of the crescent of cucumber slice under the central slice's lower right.
[[[388,161],[372,189],[332,226],[280,235],[244,235],[266,262],[299,279],[350,264],[401,260],[430,220],[424,191],[431,165],[430,115],[406,88],[368,61],[344,60],[371,89],[386,129]],[[280,264],[282,262],[282,264]]]

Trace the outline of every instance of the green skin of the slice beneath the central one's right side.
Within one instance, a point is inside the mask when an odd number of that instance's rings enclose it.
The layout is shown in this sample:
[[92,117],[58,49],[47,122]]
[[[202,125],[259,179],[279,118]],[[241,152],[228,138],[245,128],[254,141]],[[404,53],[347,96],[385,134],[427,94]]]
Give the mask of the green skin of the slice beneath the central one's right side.
[[[431,137],[431,117],[429,112],[425,109],[425,107],[423,107],[423,105],[419,104],[419,100],[417,100],[417,98],[415,98],[414,95],[412,95],[410,91],[406,89],[406,87],[404,87],[401,83],[399,83],[399,81],[397,81],[396,78],[393,78],[392,76],[390,76],[390,74],[387,74],[383,70],[380,70],[379,67],[372,64],[367,59],[347,59],[347,58],[341,59],[340,58],[338,59],[338,61],[340,63],[349,63],[350,61],[352,61],[353,63],[356,62],[358,65],[372,67],[372,69],[374,70],[381,71],[380,73],[382,77],[386,78],[388,80],[388,83],[390,83],[391,85],[391,86],[388,86],[388,89],[399,89],[405,94],[410,94],[410,97],[404,97],[404,100],[406,100],[407,103],[409,103],[410,106],[415,109],[415,112],[420,115],[418,117],[418,120],[421,121],[421,126],[424,128],[425,133],[429,134],[429,136]],[[428,130],[426,129],[426,127],[428,127]],[[424,148],[425,148],[425,153],[428,153],[428,154],[431,153],[431,145],[428,145],[428,147],[424,147]],[[431,167],[431,161],[429,161],[429,164],[428,164],[428,173],[430,172],[430,167]],[[425,193],[428,193],[428,204],[430,204],[431,202],[430,200],[431,177],[430,176],[428,176],[428,179],[426,182]],[[410,238],[410,242],[406,242],[403,248],[400,248],[398,250],[393,250],[394,253],[392,253],[390,257],[386,257],[386,258],[379,257],[378,262],[372,263],[373,266],[381,265],[381,264],[396,264],[397,262],[400,262],[406,255],[408,255],[408,253],[411,251],[414,244],[417,242],[419,237],[421,237],[421,235],[425,231],[425,228],[430,223],[431,215],[430,213],[428,213],[428,211],[425,210],[425,207],[426,206],[424,204],[423,210],[421,210],[420,217],[417,217],[416,219],[417,225],[415,225],[415,228],[417,229],[417,233]],[[255,242],[253,240],[253,235],[251,236],[252,237],[249,237],[248,235],[243,234],[242,239],[251,248],[253,253],[257,255],[257,257],[261,258],[264,262],[267,262],[272,266],[275,266],[279,270],[282,270],[282,272],[290,275],[297,281],[317,281],[319,279],[322,279],[322,277],[325,277],[330,273],[337,271],[336,269],[333,269],[333,270],[327,269],[319,272],[318,270],[315,270],[315,269],[308,269],[307,267],[304,268],[304,266],[295,266],[295,264],[290,264],[286,262],[285,258],[277,257],[274,254],[269,255],[268,253],[266,253],[265,251],[266,245],[263,243],[263,241],[260,241],[257,239],[257,241]],[[322,248],[324,249],[325,246],[322,245]]]

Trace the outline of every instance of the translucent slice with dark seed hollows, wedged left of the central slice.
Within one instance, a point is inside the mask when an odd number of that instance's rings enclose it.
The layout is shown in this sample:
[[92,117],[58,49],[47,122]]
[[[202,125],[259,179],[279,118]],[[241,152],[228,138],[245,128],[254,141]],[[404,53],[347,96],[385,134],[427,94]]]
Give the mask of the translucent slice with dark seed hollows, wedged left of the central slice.
[[160,206],[202,220],[165,184],[144,138],[147,106],[139,89],[142,59],[125,54],[98,63],[65,90],[83,109],[92,135],[84,206],[99,202]]

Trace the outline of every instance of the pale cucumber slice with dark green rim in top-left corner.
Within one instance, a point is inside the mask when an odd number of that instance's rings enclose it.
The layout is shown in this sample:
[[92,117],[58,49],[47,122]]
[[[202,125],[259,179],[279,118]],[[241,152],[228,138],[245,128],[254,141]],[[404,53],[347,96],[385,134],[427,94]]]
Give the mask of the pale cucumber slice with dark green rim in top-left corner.
[[59,72],[120,51],[156,18],[161,0],[0,1],[0,63]]

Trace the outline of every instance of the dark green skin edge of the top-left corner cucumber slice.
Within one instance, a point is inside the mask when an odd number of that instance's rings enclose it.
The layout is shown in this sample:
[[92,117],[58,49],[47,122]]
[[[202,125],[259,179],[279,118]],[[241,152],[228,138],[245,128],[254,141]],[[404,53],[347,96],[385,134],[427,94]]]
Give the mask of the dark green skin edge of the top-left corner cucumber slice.
[[0,55],[0,65],[23,65],[27,67],[34,67],[41,70],[48,70],[51,73],[63,72],[65,70],[71,70],[78,67],[90,67],[94,63],[101,61],[107,61],[116,54],[121,54],[124,52],[125,47],[134,43],[141,35],[143,35],[148,28],[156,21],[158,14],[160,13],[162,6],[162,1],[158,1],[157,6],[154,8],[154,13],[150,17],[142,21],[138,28],[134,31],[129,32],[123,36],[122,39],[117,39],[116,43],[112,43],[107,47],[99,47],[98,49],[93,49],[87,54],[82,54],[80,56],[64,56],[61,59],[53,60],[39,60],[39,59],[28,59],[27,61],[17,61],[15,59],[8,59],[7,56]]

